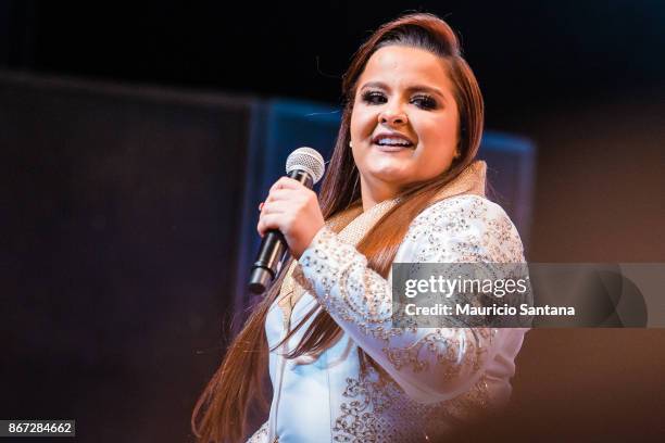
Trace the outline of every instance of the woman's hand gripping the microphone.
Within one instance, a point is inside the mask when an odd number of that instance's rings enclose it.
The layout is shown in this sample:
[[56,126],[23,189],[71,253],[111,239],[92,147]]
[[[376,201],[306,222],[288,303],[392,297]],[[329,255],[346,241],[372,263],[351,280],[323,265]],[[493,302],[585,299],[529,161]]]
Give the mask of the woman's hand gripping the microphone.
[[291,255],[298,260],[323,226],[316,193],[292,178],[281,177],[261,205],[256,230],[261,237],[271,229],[281,231]]

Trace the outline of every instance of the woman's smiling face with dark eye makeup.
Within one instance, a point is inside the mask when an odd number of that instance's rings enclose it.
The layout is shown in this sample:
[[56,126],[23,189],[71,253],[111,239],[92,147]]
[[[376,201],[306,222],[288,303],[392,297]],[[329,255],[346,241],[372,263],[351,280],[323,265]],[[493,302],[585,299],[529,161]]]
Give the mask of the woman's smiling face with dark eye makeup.
[[351,114],[353,159],[363,203],[447,170],[456,153],[460,116],[446,65],[404,46],[376,51],[360,76]]

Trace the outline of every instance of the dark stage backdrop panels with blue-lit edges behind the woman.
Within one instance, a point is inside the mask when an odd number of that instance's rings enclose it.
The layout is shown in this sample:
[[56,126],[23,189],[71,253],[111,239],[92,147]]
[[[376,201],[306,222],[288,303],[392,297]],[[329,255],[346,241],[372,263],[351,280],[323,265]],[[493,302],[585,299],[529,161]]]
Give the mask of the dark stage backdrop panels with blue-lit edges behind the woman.
[[[293,149],[328,157],[339,116],[0,73],[0,417],[73,418],[81,442],[190,440],[250,302],[256,205]],[[532,145],[488,131],[480,156],[527,240]]]

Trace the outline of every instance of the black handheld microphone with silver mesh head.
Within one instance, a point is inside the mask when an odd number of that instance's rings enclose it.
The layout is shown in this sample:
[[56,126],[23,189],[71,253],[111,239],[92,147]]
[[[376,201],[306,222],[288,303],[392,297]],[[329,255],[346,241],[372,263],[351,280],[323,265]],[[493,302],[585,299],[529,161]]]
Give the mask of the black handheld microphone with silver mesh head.
[[[298,148],[287,159],[287,176],[310,189],[322,179],[324,170],[323,156],[312,148]],[[250,274],[249,290],[252,293],[264,293],[277,278],[287,251],[287,242],[277,229],[272,229],[263,236]]]

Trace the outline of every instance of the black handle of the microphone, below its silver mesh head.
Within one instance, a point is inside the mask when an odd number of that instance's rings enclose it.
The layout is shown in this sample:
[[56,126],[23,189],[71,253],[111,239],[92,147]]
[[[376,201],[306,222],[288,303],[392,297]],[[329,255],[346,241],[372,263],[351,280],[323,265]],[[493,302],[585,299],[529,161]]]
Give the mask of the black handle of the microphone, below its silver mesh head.
[[[291,170],[288,176],[312,189],[312,177],[308,173],[296,169]],[[263,236],[250,274],[249,290],[252,293],[262,294],[269,288],[281,270],[281,262],[287,251],[287,242],[277,229],[271,229]]]

